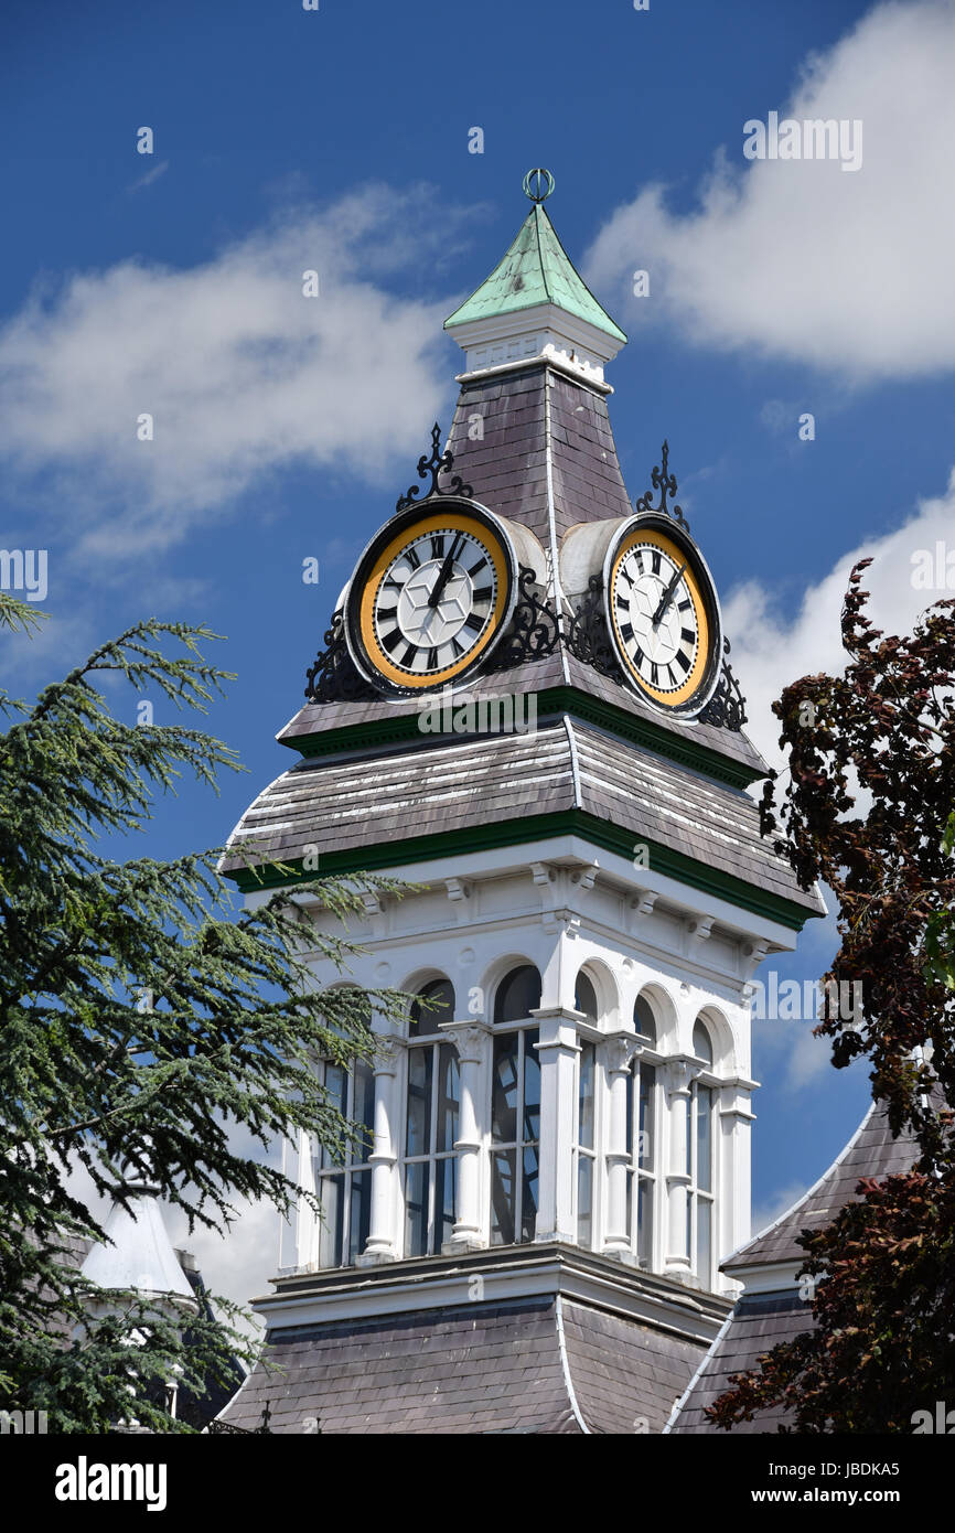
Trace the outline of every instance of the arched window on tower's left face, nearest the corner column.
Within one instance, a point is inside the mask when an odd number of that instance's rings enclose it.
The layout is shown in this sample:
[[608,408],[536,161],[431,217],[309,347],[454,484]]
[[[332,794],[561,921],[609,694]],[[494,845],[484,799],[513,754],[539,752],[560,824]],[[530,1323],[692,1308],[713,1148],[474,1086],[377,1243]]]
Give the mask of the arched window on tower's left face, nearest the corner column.
[[541,1004],[541,977],[533,964],[512,969],[494,1001],[491,1070],[491,1243],[533,1240],[541,1134],[541,1069],[537,1026],[526,1023]]

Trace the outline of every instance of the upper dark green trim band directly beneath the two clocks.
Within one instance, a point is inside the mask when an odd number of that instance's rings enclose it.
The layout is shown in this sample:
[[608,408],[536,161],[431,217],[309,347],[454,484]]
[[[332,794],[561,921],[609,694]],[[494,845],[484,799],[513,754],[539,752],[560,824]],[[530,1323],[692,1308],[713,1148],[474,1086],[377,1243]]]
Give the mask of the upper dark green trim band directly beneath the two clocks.
[[[612,702],[601,702],[590,698],[576,687],[549,687],[537,693],[538,717],[555,713],[570,713],[584,724],[593,724],[601,730],[609,730],[635,745],[645,745],[658,756],[667,756],[681,766],[690,766],[717,782],[730,783],[731,788],[748,788],[750,783],[765,777],[762,770],[748,766],[745,762],[734,762],[708,745],[697,745],[671,734],[662,725],[650,719],[639,719],[625,708],[618,708]],[[376,750],[382,745],[399,745],[406,740],[425,739],[417,727],[418,714],[402,713],[392,719],[372,719],[363,724],[346,724],[339,730],[325,730],[320,734],[300,734],[296,739],[282,740],[290,750],[302,756],[337,756],[343,751]],[[429,734],[432,740],[435,736]]]

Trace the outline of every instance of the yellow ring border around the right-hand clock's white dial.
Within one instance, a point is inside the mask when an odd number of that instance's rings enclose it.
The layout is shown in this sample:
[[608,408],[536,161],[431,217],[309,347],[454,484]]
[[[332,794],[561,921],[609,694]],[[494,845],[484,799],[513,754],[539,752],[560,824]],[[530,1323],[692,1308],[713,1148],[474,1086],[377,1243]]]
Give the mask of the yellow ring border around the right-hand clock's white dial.
[[[684,682],[676,688],[653,687],[639,675],[621,633],[616,612],[615,590],[621,564],[635,547],[650,544],[658,547],[674,564],[685,564],[682,583],[685,584],[693,613],[696,618],[696,653]],[[650,699],[665,713],[690,716],[691,711],[704,708],[713,693],[717,675],[717,647],[720,645],[719,609],[716,606],[716,590],[713,578],[707,570],[702,556],[688,540],[673,537],[668,527],[661,527],[656,518],[639,518],[630,523],[616,544],[612,546],[607,561],[607,578],[604,581],[604,602],[607,625],[613,636],[616,656],[624,667],[624,675],[636,687],[641,696]]]

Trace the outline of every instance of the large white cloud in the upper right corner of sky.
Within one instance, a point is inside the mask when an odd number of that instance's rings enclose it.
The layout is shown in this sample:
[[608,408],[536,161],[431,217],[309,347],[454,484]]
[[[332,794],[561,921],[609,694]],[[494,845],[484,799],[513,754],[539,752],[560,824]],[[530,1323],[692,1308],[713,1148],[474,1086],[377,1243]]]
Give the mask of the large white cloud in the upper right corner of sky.
[[[747,117],[861,120],[863,162],[743,159],[720,149],[697,207],[665,187],[619,207],[587,261],[636,322],[667,320],[701,345],[754,348],[860,382],[955,366],[952,244],[944,189],[955,152],[955,6],[875,6],[806,60],[789,101],[754,95]],[[650,271],[650,297],[632,277]]]

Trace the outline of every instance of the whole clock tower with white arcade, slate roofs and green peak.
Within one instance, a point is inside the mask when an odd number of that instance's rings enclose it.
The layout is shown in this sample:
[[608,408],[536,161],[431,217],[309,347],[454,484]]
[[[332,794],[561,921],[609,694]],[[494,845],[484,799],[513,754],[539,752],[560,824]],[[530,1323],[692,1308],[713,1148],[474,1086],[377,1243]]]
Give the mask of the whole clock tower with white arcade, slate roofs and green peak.
[[372,1021],[374,1065],[319,1065],[365,1144],[294,1147],[323,1217],[304,1199],[284,1229],[239,1427],[268,1403],[279,1432],[661,1432],[736,1292],[748,983],[823,906],[760,839],[766,766],[667,443],[624,487],[625,336],[552,189],[529,173],[446,320],[449,437],[372,532],[279,734],[296,760],[235,831],[256,875],[227,858],[250,900],[299,871],[412,883],[366,898],[353,980],[428,1003]]

